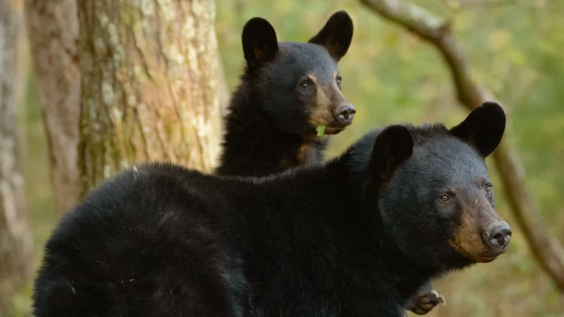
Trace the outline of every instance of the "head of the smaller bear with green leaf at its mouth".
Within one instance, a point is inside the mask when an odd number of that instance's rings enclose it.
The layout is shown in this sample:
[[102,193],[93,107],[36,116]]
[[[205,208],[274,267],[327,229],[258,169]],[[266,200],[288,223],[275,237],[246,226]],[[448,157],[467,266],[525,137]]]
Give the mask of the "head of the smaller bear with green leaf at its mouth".
[[355,108],[341,92],[337,62],[353,37],[345,11],[331,15],[308,43],[278,42],[274,27],[252,18],[243,28],[246,81],[275,128],[296,135],[336,134],[353,122]]

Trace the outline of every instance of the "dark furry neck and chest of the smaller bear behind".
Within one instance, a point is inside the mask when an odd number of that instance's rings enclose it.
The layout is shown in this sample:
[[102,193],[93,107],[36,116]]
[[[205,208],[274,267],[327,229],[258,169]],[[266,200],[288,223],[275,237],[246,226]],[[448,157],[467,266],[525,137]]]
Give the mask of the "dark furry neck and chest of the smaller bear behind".
[[233,94],[217,173],[264,176],[322,161],[326,137],[307,138],[277,129],[254,95],[245,83]]

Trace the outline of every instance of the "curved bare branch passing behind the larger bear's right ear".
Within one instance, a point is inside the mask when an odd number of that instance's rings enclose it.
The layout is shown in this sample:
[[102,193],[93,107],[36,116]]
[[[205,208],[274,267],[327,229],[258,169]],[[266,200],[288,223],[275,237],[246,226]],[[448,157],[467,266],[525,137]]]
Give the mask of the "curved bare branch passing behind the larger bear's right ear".
[[[401,0],[361,0],[361,2],[384,18],[422,37],[439,50],[453,76],[458,100],[462,105],[473,109],[484,101],[496,100],[491,92],[472,80],[470,65],[448,23],[444,23],[419,6]],[[510,126],[508,124],[508,127]],[[558,240],[550,237],[544,230],[546,225],[541,218],[540,206],[525,186],[525,169],[511,143],[510,132],[510,130],[505,131],[505,137],[494,152],[494,160],[503,181],[505,195],[527,238],[532,254],[558,289],[564,291],[563,249]]]

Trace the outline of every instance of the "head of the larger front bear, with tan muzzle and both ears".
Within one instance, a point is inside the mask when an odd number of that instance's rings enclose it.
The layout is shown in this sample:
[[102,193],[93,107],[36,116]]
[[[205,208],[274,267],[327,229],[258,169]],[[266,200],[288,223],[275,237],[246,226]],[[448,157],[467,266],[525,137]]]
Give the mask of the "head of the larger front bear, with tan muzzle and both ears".
[[392,125],[376,136],[371,175],[382,228],[421,267],[489,262],[511,230],[496,213],[484,159],[501,142],[505,113],[487,102],[454,128]]

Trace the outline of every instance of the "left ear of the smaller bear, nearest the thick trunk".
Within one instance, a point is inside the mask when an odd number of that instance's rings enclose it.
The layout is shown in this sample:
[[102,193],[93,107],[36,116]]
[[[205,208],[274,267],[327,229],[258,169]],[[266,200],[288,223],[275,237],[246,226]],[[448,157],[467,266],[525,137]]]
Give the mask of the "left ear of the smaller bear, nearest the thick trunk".
[[250,67],[270,61],[278,53],[278,39],[269,21],[250,19],[243,27],[243,54]]

